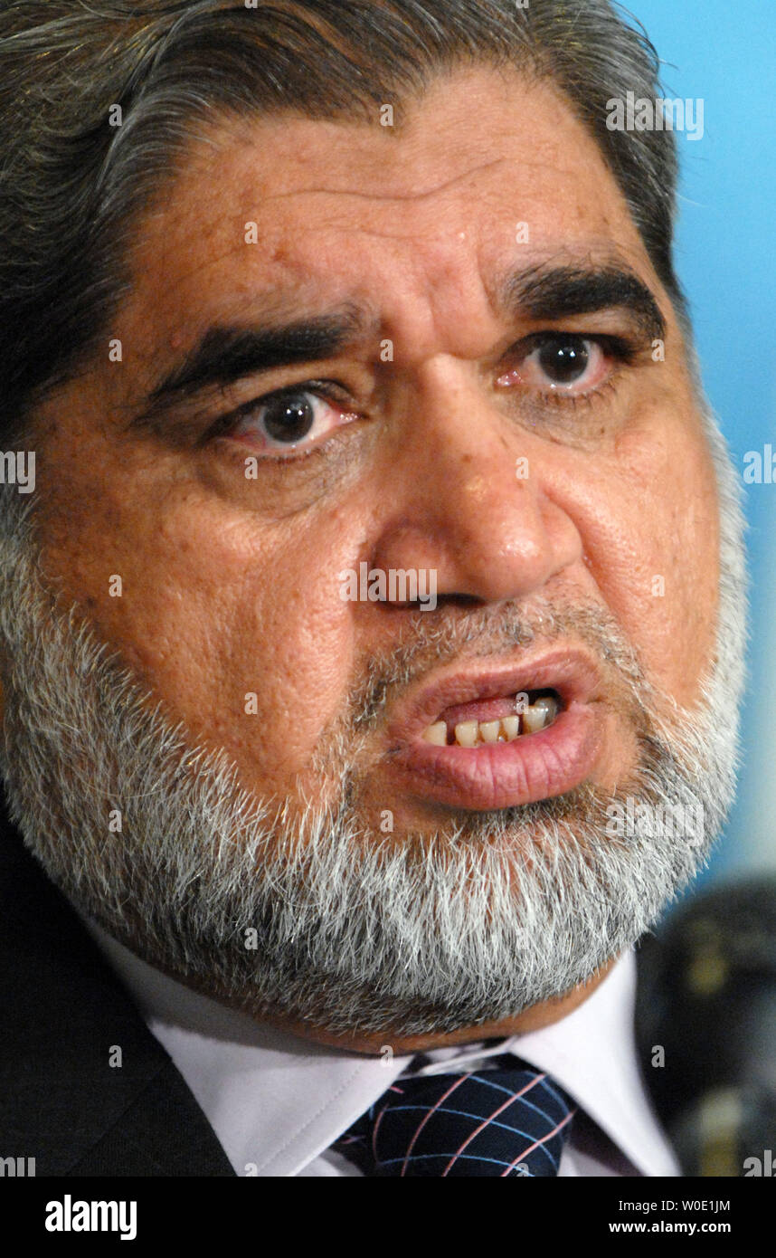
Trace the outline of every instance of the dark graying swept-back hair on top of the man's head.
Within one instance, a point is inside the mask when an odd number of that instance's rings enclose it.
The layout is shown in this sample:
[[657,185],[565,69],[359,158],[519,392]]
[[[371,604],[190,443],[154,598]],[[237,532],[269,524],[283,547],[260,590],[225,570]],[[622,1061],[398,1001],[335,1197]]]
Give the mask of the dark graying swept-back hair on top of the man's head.
[[[379,121],[462,63],[565,93],[683,326],[670,131],[610,131],[658,57],[609,0],[0,0],[0,440],[73,377],[127,293],[127,242],[197,125],[292,108]],[[118,109],[117,109],[118,107]]]

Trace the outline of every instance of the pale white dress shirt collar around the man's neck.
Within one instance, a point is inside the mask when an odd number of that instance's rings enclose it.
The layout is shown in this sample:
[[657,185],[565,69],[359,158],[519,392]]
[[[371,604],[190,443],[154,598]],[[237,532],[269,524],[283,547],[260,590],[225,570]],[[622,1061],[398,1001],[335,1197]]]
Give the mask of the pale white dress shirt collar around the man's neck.
[[[343,1052],[255,1023],[141,961],[84,925],[164,1045],[238,1175],[360,1176],[330,1145],[413,1060]],[[677,1175],[648,1101],[633,1033],[635,957],[625,954],[574,1013],[487,1047],[435,1049],[423,1073],[514,1052],[580,1106],[560,1175]]]

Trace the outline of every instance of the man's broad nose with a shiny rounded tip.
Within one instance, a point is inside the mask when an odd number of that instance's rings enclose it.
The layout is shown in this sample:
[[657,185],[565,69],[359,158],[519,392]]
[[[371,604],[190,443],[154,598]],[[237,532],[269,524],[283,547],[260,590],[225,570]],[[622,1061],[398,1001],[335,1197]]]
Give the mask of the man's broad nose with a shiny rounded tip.
[[480,381],[435,365],[410,391],[375,567],[435,572],[438,604],[524,599],[581,559],[542,478],[552,447]]

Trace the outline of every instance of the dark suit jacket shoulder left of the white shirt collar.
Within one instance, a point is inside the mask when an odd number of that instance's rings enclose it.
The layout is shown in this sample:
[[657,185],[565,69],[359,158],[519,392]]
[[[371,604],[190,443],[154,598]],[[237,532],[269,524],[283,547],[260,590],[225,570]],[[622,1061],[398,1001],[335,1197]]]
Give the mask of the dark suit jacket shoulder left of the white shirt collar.
[[[112,1045],[123,1063],[111,1067]],[[234,1175],[169,1054],[0,815],[0,1159],[40,1175]]]

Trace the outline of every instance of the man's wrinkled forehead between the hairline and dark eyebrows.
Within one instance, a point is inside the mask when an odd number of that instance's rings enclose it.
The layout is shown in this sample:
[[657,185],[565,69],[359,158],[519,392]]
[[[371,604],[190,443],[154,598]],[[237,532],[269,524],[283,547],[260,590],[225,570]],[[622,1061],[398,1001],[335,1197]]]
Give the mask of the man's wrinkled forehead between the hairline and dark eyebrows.
[[440,78],[390,126],[220,120],[136,237],[156,327],[482,291],[518,264],[620,263],[658,288],[625,200],[562,96],[489,69]]

